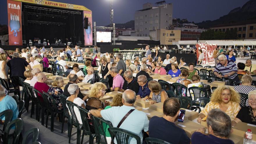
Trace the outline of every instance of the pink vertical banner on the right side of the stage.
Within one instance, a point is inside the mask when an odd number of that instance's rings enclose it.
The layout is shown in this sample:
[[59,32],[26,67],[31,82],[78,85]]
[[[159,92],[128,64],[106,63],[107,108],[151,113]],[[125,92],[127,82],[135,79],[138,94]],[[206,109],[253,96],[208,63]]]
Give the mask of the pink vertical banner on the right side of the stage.
[[84,45],[93,45],[93,19],[91,11],[83,11],[83,17],[88,18],[88,29],[84,29]]

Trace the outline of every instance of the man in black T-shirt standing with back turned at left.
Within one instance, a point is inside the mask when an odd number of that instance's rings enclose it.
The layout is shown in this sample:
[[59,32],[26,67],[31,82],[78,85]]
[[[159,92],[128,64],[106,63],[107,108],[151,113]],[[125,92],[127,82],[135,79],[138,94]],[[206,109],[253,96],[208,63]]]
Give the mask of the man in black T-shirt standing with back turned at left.
[[23,58],[19,58],[19,53],[13,53],[13,59],[6,63],[10,67],[10,78],[12,80],[14,88],[19,89],[19,77],[26,79],[24,72],[26,71],[25,67],[28,67],[29,70],[32,70],[29,63]]

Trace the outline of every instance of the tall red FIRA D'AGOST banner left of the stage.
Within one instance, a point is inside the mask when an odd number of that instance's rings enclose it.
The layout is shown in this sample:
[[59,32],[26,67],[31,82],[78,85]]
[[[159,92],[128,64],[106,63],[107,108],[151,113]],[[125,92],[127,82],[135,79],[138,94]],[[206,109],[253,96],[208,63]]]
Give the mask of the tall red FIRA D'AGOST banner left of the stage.
[[9,45],[22,45],[21,2],[7,0]]

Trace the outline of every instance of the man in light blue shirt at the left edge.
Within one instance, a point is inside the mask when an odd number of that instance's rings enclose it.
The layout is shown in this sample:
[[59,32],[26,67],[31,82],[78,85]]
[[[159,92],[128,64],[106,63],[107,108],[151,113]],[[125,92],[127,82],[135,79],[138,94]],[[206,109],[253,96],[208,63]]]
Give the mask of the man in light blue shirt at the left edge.
[[[2,85],[0,85],[0,113],[7,109],[11,109],[13,111],[12,120],[15,120],[16,118],[18,118],[18,115],[19,115],[17,102],[11,96],[6,95],[4,90],[5,88]],[[5,120],[5,116],[2,115],[0,117],[0,124],[3,125],[4,120]]]

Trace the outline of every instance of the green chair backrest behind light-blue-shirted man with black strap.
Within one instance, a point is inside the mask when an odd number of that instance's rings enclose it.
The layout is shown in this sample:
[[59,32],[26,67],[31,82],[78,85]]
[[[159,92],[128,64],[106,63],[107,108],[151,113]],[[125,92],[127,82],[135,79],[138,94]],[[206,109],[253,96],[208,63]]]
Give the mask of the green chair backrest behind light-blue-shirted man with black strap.
[[137,144],[141,144],[141,138],[131,131],[120,129],[117,127],[110,127],[109,133],[112,139],[116,139],[117,144],[129,144],[129,138],[135,138]]

